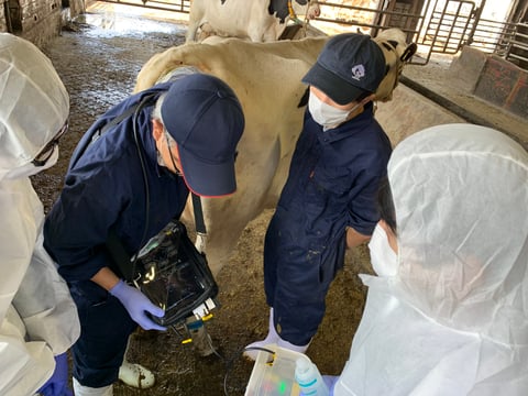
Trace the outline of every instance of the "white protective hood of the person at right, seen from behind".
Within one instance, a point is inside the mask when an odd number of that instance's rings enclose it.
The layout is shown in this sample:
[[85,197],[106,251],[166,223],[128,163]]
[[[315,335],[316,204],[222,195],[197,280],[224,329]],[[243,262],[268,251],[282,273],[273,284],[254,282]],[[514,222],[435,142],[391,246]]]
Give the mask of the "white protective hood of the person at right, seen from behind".
[[388,164],[405,300],[432,320],[528,344],[528,154],[501,132],[430,128]]

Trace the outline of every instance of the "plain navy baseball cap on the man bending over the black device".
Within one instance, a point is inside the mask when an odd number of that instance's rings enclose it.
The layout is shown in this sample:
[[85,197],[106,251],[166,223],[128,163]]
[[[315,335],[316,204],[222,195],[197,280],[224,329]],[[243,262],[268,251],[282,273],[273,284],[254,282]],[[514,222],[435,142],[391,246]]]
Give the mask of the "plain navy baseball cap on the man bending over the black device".
[[204,197],[234,193],[244,114],[233,90],[217,77],[188,75],[173,82],[161,110],[165,129],[178,144],[189,189]]

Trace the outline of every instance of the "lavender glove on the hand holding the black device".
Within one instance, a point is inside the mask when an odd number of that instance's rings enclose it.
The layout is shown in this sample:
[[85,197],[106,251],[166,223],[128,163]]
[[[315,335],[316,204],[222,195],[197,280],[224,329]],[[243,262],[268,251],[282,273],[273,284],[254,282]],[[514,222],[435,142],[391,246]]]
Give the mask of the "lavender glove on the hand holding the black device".
[[130,317],[145,330],[167,330],[167,328],[154,322],[147,314],[163,317],[164,310],[156,307],[151,300],[135,287],[127,285],[123,280],[113,286],[109,293],[121,301]]

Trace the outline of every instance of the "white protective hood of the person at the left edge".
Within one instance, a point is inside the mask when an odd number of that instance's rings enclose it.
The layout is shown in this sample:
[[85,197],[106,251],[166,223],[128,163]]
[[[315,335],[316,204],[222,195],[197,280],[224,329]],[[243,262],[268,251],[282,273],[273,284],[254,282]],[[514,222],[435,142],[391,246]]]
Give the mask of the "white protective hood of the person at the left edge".
[[51,61],[34,44],[0,33],[0,180],[34,174],[29,164],[68,113],[69,97]]

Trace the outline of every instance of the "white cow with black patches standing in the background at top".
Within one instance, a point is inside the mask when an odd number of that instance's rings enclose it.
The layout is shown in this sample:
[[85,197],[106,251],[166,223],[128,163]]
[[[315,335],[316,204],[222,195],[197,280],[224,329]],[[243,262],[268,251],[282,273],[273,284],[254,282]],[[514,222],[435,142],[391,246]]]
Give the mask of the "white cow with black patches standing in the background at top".
[[319,16],[317,0],[193,0],[186,42],[195,42],[199,29],[205,35],[276,41],[297,14]]

